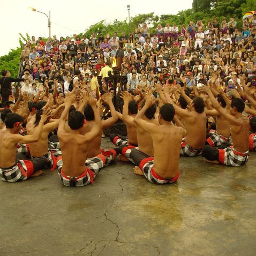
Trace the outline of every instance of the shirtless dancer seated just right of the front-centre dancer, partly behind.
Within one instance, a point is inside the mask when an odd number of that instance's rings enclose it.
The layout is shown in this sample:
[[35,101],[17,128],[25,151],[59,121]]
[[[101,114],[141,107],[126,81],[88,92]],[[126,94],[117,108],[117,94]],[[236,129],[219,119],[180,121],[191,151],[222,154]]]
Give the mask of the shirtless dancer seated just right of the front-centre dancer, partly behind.
[[[182,156],[197,156],[202,153],[202,147],[206,140],[206,114],[204,112],[205,103],[201,97],[194,97],[193,100],[187,95],[183,94],[185,100],[189,103],[189,111],[178,107],[172,101],[168,87],[164,88],[164,95],[168,103],[174,106],[175,112],[178,116],[184,118],[185,129],[187,131],[186,137],[183,138],[180,155]],[[163,99],[163,101],[165,101]]]

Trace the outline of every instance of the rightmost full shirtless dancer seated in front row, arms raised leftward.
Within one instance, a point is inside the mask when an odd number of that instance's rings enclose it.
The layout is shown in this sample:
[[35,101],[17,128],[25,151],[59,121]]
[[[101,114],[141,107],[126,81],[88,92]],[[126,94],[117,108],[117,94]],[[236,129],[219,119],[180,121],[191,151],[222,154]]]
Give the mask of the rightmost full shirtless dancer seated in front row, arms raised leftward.
[[202,89],[209,95],[213,107],[229,122],[233,142],[233,147],[225,149],[216,149],[206,145],[202,151],[202,156],[208,162],[222,163],[229,166],[245,164],[249,157],[250,122],[249,118],[242,114],[245,107],[244,101],[239,98],[233,99],[231,101],[230,114],[228,114],[217,102],[209,86],[204,86]]

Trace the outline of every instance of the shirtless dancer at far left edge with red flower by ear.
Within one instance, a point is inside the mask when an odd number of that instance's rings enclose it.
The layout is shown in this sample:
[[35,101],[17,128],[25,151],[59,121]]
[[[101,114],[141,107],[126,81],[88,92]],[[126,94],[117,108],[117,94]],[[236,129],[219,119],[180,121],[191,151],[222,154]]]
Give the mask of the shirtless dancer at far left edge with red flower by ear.
[[0,131],[0,178],[7,182],[26,180],[30,176],[42,174],[41,168],[46,165],[46,157],[35,157],[32,161],[26,160],[21,153],[16,154],[18,143],[26,144],[40,139],[44,122],[50,117],[50,110],[44,110],[41,120],[33,135],[20,135],[24,118],[10,113],[5,117],[6,129]]

